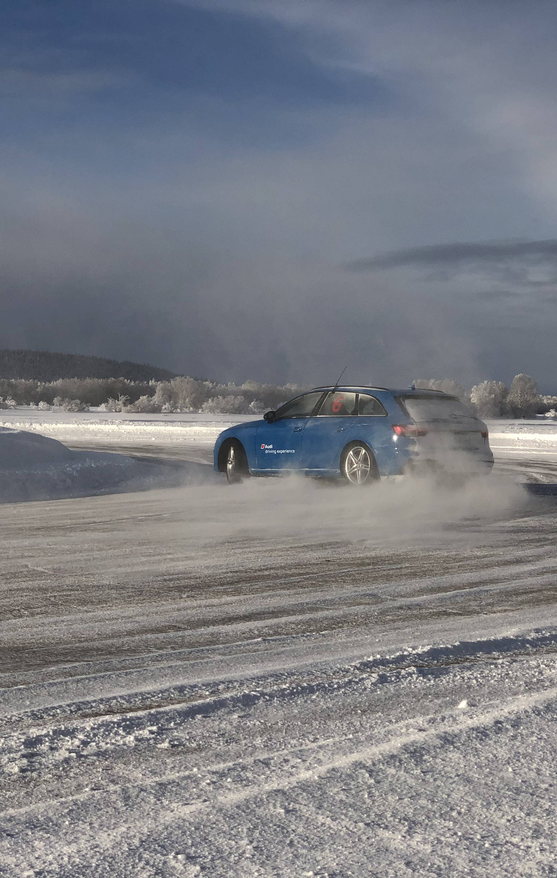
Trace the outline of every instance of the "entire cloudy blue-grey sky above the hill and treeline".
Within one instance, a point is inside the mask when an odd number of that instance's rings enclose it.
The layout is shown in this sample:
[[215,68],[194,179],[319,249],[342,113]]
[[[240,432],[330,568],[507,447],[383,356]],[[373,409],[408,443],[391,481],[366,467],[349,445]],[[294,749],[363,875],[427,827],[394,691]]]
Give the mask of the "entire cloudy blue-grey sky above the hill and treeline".
[[557,390],[556,19],[3,4],[0,346]]

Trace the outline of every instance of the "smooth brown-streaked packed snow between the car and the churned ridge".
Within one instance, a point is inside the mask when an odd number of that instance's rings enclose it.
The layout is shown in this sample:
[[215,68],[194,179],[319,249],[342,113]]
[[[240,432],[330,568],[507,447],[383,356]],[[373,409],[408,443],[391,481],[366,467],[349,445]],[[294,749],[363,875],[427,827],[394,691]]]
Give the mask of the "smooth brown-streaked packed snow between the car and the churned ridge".
[[386,485],[373,500],[301,479],[231,489],[196,469],[201,484],[171,491],[0,508],[12,683],[254,637],[361,629],[367,642],[553,599],[557,498],[503,479],[456,494]]

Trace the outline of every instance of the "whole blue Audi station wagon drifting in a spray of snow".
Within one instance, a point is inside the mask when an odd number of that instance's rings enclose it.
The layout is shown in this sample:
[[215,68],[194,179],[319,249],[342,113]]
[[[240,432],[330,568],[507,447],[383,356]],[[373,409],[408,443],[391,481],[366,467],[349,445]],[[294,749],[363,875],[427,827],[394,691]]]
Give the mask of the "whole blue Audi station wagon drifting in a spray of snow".
[[408,472],[487,473],[493,455],[488,428],[455,396],[331,386],[225,429],[214,466],[231,484],[301,472],[364,486]]

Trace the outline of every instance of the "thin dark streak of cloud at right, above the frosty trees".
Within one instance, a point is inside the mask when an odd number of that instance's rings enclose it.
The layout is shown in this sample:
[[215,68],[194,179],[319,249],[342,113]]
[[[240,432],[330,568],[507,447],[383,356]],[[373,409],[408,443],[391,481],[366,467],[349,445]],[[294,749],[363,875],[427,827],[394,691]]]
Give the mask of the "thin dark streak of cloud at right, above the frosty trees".
[[368,259],[357,259],[346,264],[352,271],[377,271],[403,266],[434,268],[457,266],[463,263],[501,264],[521,257],[534,257],[537,262],[553,262],[557,258],[557,239],[548,241],[512,241],[511,243],[482,243],[471,241],[452,244],[431,244],[392,250]]

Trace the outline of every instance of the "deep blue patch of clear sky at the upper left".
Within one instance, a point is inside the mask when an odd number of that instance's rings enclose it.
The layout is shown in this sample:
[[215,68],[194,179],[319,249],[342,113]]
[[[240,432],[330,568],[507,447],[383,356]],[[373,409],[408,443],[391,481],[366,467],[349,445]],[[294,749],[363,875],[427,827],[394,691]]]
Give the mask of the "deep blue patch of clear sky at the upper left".
[[[241,145],[255,136],[275,148],[277,139],[298,134],[276,124],[281,107],[381,106],[392,99],[379,77],[327,70],[311,61],[296,31],[235,14],[233,4],[211,11],[161,0],[14,3],[0,10],[0,27],[14,68],[52,98],[39,118],[54,135],[76,123],[84,130],[172,130],[175,114],[187,112],[192,123],[214,126],[217,137]],[[12,93],[24,90],[25,80]],[[223,104],[220,119],[204,119],[204,100],[211,98]],[[13,102],[16,134],[36,124],[38,109]]]

